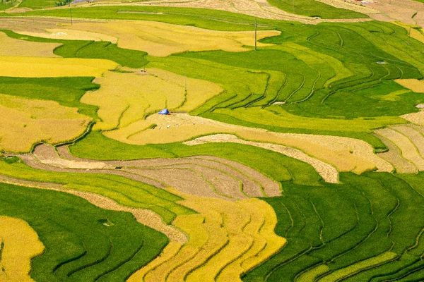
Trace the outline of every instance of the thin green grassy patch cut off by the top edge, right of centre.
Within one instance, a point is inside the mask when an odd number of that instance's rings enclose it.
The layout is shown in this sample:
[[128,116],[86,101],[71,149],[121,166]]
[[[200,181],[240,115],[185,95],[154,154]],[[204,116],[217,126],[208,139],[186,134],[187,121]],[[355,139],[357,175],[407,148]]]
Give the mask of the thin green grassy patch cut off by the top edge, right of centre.
[[269,0],[269,4],[281,8],[283,11],[302,16],[319,18],[368,18],[363,13],[335,8],[315,0]]

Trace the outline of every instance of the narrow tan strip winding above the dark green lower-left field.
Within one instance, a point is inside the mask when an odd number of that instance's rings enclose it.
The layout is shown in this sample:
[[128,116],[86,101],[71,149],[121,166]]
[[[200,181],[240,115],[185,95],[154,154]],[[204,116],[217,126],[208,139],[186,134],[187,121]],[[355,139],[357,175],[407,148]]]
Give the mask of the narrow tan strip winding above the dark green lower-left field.
[[136,209],[131,207],[125,207],[117,202],[114,202],[108,197],[103,197],[102,195],[90,193],[90,192],[82,192],[78,190],[69,190],[62,188],[64,185],[57,183],[42,183],[36,181],[27,181],[20,180],[17,178],[11,178],[8,176],[0,175],[0,182],[2,183],[10,183],[15,185],[26,186],[30,188],[38,188],[38,189],[46,189],[46,190],[54,190],[60,192],[66,192],[72,195],[76,195],[78,197],[82,197],[83,199],[88,200],[91,204],[94,204],[97,207],[102,209],[110,209],[119,212],[131,212],[134,215],[134,218],[139,223],[148,226],[150,228],[155,229],[161,233],[164,233],[167,238],[169,238],[172,242],[184,244],[188,241],[187,235],[180,231],[175,226],[167,225],[163,222],[162,218],[152,212],[149,209]]

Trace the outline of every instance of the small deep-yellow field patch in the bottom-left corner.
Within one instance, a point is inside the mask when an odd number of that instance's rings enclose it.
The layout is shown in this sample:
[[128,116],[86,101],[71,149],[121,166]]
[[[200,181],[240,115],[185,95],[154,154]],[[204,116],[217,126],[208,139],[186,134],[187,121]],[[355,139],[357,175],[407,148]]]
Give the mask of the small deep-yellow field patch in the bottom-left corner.
[[0,216],[0,281],[33,282],[31,259],[45,250],[37,233],[26,221]]

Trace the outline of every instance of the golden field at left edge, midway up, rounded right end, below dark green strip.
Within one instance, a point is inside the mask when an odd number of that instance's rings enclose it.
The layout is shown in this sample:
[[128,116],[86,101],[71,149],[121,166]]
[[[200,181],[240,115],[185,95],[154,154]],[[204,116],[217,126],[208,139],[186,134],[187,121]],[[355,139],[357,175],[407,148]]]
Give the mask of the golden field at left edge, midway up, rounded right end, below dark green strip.
[[0,94],[0,149],[29,152],[33,144],[57,144],[82,135],[91,118],[57,102]]

